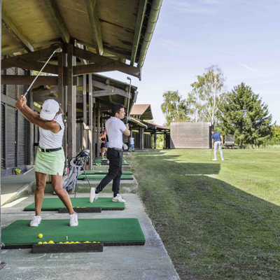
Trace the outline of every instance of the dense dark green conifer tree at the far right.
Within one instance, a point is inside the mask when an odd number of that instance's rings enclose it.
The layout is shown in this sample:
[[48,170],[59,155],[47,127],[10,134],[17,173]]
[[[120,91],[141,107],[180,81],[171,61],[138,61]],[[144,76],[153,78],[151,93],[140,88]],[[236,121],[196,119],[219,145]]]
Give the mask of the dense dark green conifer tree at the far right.
[[272,137],[272,115],[259,94],[248,85],[238,85],[221,105],[218,128],[223,134],[234,134],[235,143],[260,145]]

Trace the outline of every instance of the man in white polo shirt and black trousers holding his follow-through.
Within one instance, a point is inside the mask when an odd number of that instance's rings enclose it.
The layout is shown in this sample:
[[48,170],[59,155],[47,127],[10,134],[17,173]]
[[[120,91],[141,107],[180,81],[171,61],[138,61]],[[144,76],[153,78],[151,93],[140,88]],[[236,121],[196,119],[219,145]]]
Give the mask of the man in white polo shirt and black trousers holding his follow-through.
[[123,134],[130,136],[129,126],[121,120],[125,118],[123,104],[114,104],[112,116],[106,121],[105,127],[109,137],[109,148],[107,158],[109,159],[109,173],[99,183],[95,190],[94,200],[98,199],[99,193],[113,180],[113,202],[125,202],[120,195],[120,176],[122,176],[123,165]]

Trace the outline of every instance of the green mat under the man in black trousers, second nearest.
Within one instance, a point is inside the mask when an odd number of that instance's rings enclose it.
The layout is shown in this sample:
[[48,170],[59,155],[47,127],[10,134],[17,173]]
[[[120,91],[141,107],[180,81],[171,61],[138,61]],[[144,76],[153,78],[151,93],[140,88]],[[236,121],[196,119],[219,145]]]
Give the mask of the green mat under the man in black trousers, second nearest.
[[[112,202],[111,197],[99,197],[98,200],[90,203],[90,197],[71,197],[70,198],[73,207],[100,207],[102,209],[125,209],[124,202]],[[57,197],[44,198],[42,210],[58,210],[61,207],[65,207],[61,200]],[[35,204],[32,203],[25,207],[26,211],[34,210]]]

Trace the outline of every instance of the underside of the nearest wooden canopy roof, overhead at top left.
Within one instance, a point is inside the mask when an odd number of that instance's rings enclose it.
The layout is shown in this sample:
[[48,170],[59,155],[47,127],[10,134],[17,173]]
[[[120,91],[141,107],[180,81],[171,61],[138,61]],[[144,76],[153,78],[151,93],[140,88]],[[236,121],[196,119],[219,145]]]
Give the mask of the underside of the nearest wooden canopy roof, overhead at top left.
[[1,55],[33,52],[53,43],[76,40],[91,52],[127,59],[133,66],[146,56],[147,46],[143,49],[141,42],[146,30],[153,35],[160,10],[156,8],[161,2],[3,0]]

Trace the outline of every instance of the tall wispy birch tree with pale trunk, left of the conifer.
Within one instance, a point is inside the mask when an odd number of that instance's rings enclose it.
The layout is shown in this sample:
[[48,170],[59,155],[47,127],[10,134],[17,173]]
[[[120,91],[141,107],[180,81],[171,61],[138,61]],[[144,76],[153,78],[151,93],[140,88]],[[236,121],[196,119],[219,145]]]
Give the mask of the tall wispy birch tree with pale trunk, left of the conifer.
[[213,125],[227,95],[225,78],[218,66],[212,65],[205,71],[202,76],[197,76],[197,82],[191,84],[193,90],[188,94],[190,116],[195,122],[209,122]]

